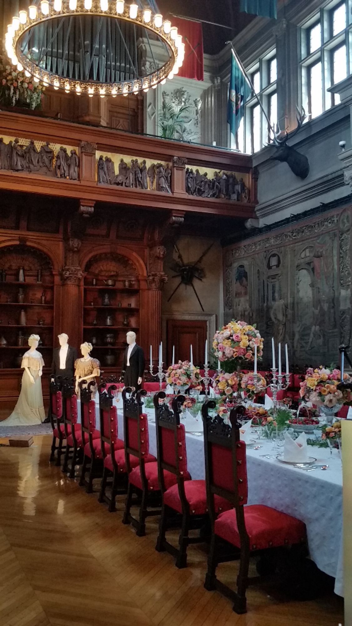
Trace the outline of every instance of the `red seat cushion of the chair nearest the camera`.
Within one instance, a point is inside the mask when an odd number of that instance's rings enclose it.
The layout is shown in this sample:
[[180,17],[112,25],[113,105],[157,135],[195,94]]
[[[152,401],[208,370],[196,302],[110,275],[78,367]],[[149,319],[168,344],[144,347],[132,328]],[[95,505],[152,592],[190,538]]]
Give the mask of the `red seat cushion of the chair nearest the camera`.
[[[281,513],[271,506],[244,506],[244,520],[251,550],[264,550],[286,544],[300,543],[306,536],[306,526],[303,521],[296,520],[286,513]],[[234,509],[220,513],[215,520],[214,529],[215,535],[229,541],[237,548],[240,547]]]

